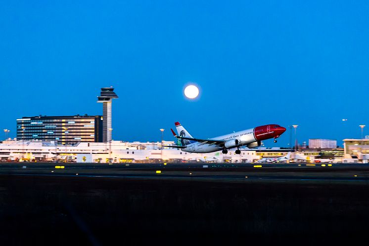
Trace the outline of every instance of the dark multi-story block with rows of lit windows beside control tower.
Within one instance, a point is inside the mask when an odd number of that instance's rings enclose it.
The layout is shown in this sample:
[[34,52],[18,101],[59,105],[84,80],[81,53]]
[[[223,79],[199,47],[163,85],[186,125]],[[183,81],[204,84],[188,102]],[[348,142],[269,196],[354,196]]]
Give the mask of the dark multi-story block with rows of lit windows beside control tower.
[[102,116],[35,116],[17,119],[18,140],[56,141],[70,145],[102,142]]

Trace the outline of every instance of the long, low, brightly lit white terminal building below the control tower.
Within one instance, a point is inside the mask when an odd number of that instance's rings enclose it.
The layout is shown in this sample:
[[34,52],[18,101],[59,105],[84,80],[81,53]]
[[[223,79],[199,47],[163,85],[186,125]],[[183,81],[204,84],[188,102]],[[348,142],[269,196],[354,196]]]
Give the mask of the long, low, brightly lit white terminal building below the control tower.
[[0,143],[0,160],[12,161],[73,161],[94,163],[127,162],[252,162],[258,160],[255,150],[228,154],[219,151],[212,153],[188,153],[177,148],[163,148],[174,145],[173,141],[163,143],[141,143],[111,141],[109,143],[77,143],[70,146],[43,141],[3,141]]

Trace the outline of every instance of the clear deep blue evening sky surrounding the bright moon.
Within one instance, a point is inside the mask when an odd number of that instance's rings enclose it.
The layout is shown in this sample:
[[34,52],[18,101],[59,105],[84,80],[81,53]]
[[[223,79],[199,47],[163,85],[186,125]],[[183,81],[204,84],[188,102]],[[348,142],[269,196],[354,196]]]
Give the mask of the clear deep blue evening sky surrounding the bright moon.
[[346,0],[0,0],[0,127],[102,114],[99,88],[113,86],[114,140],[173,140],[180,121],[199,138],[275,123],[341,144],[359,124],[369,135],[368,13]]

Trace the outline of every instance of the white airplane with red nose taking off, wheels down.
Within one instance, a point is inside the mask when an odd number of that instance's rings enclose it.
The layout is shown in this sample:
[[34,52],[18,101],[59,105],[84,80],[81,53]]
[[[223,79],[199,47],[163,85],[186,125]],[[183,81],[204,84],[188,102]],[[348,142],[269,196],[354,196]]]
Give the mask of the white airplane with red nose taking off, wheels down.
[[182,146],[163,146],[171,148],[181,148],[183,151],[191,153],[210,153],[222,150],[222,153],[228,153],[227,149],[237,148],[236,154],[240,154],[238,149],[241,146],[247,148],[256,148],[261,145],[261,141],[266,139],[273,139],[277,143],[277,138],[286,131],[284,127],[279,125],[265,125],[257,126],[240,132],[234,132],[224,136],[212,139],[196,139],[186,131],[186,129],[179,123],[175,123],[178,135],[171,129],[173,135],[181,139]]

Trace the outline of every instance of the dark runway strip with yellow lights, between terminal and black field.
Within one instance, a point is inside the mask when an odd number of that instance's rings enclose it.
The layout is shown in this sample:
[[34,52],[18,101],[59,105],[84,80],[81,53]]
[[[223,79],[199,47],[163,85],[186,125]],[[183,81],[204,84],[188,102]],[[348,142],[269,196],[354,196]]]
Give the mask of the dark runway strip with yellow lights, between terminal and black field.
[[368,182],[369,164],[80,164],[0,163],[0,175],[79,176],[91,178],[201,181],[335,181]]

